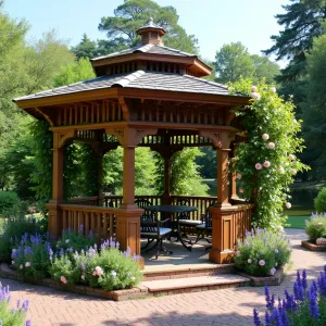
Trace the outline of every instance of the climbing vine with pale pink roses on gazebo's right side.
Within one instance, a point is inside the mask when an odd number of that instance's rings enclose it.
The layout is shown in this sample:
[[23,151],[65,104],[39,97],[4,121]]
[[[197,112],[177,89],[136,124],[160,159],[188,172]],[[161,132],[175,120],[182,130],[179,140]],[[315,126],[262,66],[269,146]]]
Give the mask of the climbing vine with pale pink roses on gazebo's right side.
[[241,175],[239,192],[255,205],[254,226],[276,228],[284,222],[283,210],[290,206],[289,185],[309,168],[296,156],[304,148],[298,137],[302,121],[294,118],[293,103],[280,98],[275,87],[241,79],[230,89],[252,98],[248,106],[235,110],[247,129],[233,164]]

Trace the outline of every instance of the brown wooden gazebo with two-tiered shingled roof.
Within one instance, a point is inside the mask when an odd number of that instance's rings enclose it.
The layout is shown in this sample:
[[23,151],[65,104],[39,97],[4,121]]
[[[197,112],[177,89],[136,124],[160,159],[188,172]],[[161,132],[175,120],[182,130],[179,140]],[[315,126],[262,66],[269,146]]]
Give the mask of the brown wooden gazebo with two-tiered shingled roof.
[[[174,204],[171,156],[185,147],[211,146],[217,154],[217,203],[211,209],[210,260],[228,262],[237,238],[250,228],[252,205],[238,200],[235,175],[228,173],[229,156],[244,133],[231,109],[249,99],[201,79],[211,68],[195,54],[164,47],[165,32],[152,20],[137,33],[140,46],[91,60],[97,78],[15,99],[28,114],[48,121],[53,133],[49,231],[59,237],[62,229],[79,229],[83,224],[85,233],[91,229],[99,239],[115,236],[122,249],[129,247],[140,254],[142,210],[135,205],[135,148],[149,147],[165,159],[164,193],[150,198]],[[72,139],[90,142],[100,156],[123,147],[122,197],[95,193],[64,202],[63,148]],[[189,199],[199,206],[192,218],[200,218],[212,198]]]

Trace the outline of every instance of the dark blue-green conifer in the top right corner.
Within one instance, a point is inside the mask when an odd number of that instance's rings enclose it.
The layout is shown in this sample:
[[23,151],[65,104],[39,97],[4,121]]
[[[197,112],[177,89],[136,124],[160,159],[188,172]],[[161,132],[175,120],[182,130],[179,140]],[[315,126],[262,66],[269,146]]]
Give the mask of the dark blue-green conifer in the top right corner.
[[285,26],[279,35],[271,38],[274,46],[263,51],[275,53],[277,60],[288,59],[290,63],[281,71],[279,82],[293,82],[305,75],[305,52],[313,45],[313,38],[322,35],[322,22],[326,18],[325,0],[291,0],[291,4],[283,5],[285,14],[276,15],[277,23]]

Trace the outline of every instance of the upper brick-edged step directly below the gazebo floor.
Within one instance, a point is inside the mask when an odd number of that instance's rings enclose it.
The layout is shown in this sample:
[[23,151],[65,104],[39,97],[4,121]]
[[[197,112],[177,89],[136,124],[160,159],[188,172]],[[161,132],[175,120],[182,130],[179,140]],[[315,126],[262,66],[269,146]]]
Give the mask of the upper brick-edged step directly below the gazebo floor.
[[234,264],[189,264],[145,266],[145,280],[189,278],[234,273]]

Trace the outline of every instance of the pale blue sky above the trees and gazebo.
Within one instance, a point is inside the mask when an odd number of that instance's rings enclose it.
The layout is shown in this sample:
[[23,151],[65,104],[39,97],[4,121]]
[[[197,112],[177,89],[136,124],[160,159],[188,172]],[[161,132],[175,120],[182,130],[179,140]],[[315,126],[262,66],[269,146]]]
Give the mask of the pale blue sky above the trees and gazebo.
[[[179,24],[199,39],[200,52],[213,60],[224,43],[241,41],[250,53],[261,54],[273,42],[269,36],[280,26],[275,14],[284,12],[289,0],[156,0],[173,5]],[[70,45],[79,42],[86,33],[91,39],[105,38],[98,30],[102,16],[113,15],[123,0],[4,0],[4,11],[12,17],[25,17],[30,25],[28,38],[57,29]],[[284,65],[284,64],[281,64]]]

